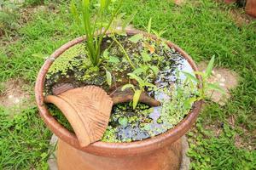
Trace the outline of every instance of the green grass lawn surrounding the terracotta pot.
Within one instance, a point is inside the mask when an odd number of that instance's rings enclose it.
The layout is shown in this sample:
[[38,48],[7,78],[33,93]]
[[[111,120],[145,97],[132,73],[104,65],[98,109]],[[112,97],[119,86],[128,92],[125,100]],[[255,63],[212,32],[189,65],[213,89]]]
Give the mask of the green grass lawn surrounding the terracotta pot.
[[[31,94],[45,57],[78,36],[67,1],[45,1],[44,7],[37,6],[38,2],[26,1],[15,8],[12,18],[0,13],[0,22],[6,22],[0,28],[7,32],[0,37],[0,82],[23,79],[31,86]],[[227,105],[207,101],[188,133],[188,155],[193,169],[255,169],[256,22],[237,26],[230,17],[230,9],[236,7],[212,0],[189,2],[193,3],[176,6],[169,0],[125,0],[122,10],[131,14],[136,8],[132,24],[142,30],[152,17],[153,29],[165,29],[163,37],[178,44],[196,62],[215,55],[218,66],[240,75],[240,84]],[[22,8],[29,12],[18,11]],[[3,91],[0,86],[0,93]],[[230,116],[235,126],[230,125]],[[218,129],[206,128],[212,125]],[[9,116],[9,109],[0,106],[0,169],[47,169],[50,136],[35,105],[16,116]],[[241,147],[237,147],[237,139]]]

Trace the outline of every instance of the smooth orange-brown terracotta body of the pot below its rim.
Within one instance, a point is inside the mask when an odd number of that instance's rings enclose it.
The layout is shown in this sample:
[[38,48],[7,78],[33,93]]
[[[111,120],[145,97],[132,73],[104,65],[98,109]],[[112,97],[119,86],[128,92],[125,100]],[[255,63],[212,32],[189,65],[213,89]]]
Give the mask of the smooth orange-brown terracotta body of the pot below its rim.
[[168,147],[135,156],[96,156],[58,142],[59,170],[177,170],[182,160],[182,143],[178,139]]

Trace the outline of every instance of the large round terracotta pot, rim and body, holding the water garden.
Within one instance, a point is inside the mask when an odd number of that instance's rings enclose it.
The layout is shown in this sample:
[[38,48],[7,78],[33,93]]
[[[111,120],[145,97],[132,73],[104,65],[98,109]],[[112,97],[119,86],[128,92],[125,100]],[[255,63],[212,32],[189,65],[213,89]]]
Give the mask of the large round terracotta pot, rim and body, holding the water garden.
[[[128,35],[134,35],[137,33],[143,33],[143,31],[126,30]],[[154,35],[148,35],[156,39]],[[59,122],[55,120],[49,113],[47,106],[44,105],[44,79],[50,65],[54,62],[54,59],[59,57],[67,48],[73,45],[83,42],[84,37],[78,37],[71,42],[67,42],[61,48],[57,49],[54,54],[51,54],[38,73],[38,78],[35,87],[36,100],[40,116],[44,119],[44,122],[49,129],[55,133],[60,139],[58,150],[58,162],[61,169],[68,169],[65,167],[72,167],[72,169],[88,169],[88,170],[109,170],[109,169],[177,169],[179,167],[180,150],[181,147],[179,139],[187,133],[190,127],[196,120],[196,117],[201,110],[202,101],[195,103],[192,111],[189,112],[182,122],[179,122],[176,127],[168,130],[166,133],[161,133],[150,139],[143,139],[142,141],[136,141],[131,143],[105,143],[98,141],[94,144],[90,144],[86,147],[80,147],[79,141],[74,133],[70,133],[65,127],[62,127]],[[163,40],[165,41],[165,40]],[[183,49],[177,47],[172,42],[166,42],[170,47],[175,48],[185,59],[189,61],[189,64],[195,71],[195,62],[186,54]],[[201,79],[201,77],[197,77]],[[177,157],[170,155],[170,150]],[[176,151],[177,150],[177,151]],[[76,157],[73,157],[76,156]],[[72,158],[73,157],[73,158]],[[151,161],[149,161],[151,160]],[[90,161],[90,162],[89,162]],[[85,162],[85,164],[84,164]],[[87,165],[86,165],[87,162]],[[63,163],[65,164],[63,166]],[[124,165],[125,163],[125,165]],[[177,165],[174,166],[176,163]],[[90,164],[90,165],[88,165]],[[68,165],[68,166],[67,166]],[[172,166],[173,165],[173,166]],[[69,168],[70,169],[70,168]]]

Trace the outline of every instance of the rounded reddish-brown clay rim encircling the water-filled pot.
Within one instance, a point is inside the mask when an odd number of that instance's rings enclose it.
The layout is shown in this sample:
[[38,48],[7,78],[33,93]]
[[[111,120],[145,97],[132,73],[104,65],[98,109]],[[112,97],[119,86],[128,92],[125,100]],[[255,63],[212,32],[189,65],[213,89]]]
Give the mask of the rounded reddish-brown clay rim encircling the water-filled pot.
[[[135,30],[135,29],[127,29],[126,33],[128,35],[134,35],[137,33],[142,33],[144,36],[149,36],[154,39],[157,39],[154,35],[145,33],[143,31]],[[109,32],[108,32],[109,34]],[[85,41],[85,37],[78,37],[73,39],[70,42],[67,42],[61,48],[55,50],[53,54],[50,55],[48,59],[44,62],[41,70],[38,72],[38,78],[35,85],[35,97],[38,105],[38,110],[40,116],[43,118],[46,125],[49,129],[58,136],[59,139],[65,141],[67,144],[72,145],[74,148],[78,150],[83,150],[85,152],[89,152],[98,156],[133,156],[141,153],[148,153],[150,151],[154,151],[160,149],[168,144],[172,144],[177,139],[181,138],[190,127],[192,127],[193,123],[196,120],[196,117],[201,110],[202,101],[197,101],[194,105],[194,108],[189,112],[189,114],[183,119],[182,122],[179,122],[175,127],[166,131],[166,133],[161,133],[157,136],[154,136],[150,139],[143,139],[141,141],[134,141],[131,143],[107,143],[98,141],[96,143],[90,144],[86,147],[80,147],[79,141],[74,133],[70,133],[65,127],[63,127],[59,122],[57,122],[52,116],[47,106],[44,104],[44,79],[47,71],[49,70],[50,65],[54,62],[54,60],[59,57],[67,48],[72,47],[73,45]],[[162,41],[166,41],[162,39]],[[172,42],[166,41],[166,44],[169,47],[175,48],[180,54],[183,55],[185,59],[188,60],[189,64],[192,66],[194,71],[198,71],[195,62],[189,54],[185,53],[183,49],[179,48]],[[201,80],[201,77],[197,78]]]

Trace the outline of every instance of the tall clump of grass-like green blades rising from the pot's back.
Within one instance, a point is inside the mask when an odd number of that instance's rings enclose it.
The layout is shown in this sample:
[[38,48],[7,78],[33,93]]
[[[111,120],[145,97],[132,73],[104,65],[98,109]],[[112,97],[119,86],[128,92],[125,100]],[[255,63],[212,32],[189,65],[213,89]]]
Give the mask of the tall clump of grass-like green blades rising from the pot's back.
[[[109,8],[111,0],[100,0],[98,4],[92,3],[90,0],[72,0],[71,2],[74,21],[79,26],[80,33],[86,35],[88,55],[94,66],[100,64],[102,39],[119,13],[122,2],[119,0],[115,8]],[[110,11],[112,14],[108,20]]]

